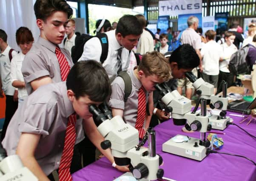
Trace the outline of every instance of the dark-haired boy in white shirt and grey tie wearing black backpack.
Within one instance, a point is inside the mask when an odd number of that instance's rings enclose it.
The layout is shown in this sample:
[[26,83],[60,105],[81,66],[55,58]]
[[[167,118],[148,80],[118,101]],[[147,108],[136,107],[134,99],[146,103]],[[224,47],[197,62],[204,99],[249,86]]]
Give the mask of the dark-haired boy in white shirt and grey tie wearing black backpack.
[[[118,72],[127,70],[130,63],[130,53],[137,45],[142,33],[142,25],[133,15],[124,15],[117,23],[117,29],[105,32],[108,38],[108,55],[102,66],[108,77],[114,80]],[[96,60],[100,62],[102,46],[97,37],[89,39],[78,61]]]

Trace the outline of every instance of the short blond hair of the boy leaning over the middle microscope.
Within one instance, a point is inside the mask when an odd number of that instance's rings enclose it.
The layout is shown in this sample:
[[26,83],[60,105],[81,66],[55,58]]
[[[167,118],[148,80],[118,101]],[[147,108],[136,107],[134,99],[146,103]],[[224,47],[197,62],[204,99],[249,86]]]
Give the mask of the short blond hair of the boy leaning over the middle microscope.
[[139,70],[142,70],[146,76],[157,75],[162,81],[168,81],[171,77],[170,65],[165,56],[158,51],[144,54],[138,67]]

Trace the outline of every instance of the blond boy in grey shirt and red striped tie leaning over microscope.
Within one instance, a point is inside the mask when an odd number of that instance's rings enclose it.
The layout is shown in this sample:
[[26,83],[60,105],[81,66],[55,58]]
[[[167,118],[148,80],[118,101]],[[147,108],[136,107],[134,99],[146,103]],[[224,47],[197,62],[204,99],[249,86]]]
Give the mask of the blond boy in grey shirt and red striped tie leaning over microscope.
[[[112,108],[113,116],[123,117],[126,122],[137,128],[139,138],[142,138],[153,112],[154,86],[169,79],[170,67],[161,53],[153,51],[142,56],[139,66],[128,72],[128,75],[131,78],[132,90],[127,101],[124,100],[125,82],[121,77],[117,77],[111,84],[109,106]],[[147,102],[148,116],[146,116]]]

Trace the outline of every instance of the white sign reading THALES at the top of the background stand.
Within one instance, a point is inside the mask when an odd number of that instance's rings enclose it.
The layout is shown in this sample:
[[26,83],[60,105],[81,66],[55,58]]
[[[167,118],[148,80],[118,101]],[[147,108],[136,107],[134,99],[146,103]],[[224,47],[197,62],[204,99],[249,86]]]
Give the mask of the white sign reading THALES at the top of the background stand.
[[202,13],[202,0],[161,0],[159,16]]

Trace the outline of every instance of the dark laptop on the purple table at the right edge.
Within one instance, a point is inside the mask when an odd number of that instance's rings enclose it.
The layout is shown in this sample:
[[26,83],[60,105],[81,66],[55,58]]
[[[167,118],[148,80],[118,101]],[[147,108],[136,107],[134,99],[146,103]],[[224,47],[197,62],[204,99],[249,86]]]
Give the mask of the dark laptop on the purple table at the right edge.
[[256,108],[256,98],[253,102],[248,102],[245,100],[235,100],[228,103],[228,111],[239,112],[243,114],[250,114],[251,109]]

